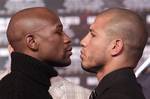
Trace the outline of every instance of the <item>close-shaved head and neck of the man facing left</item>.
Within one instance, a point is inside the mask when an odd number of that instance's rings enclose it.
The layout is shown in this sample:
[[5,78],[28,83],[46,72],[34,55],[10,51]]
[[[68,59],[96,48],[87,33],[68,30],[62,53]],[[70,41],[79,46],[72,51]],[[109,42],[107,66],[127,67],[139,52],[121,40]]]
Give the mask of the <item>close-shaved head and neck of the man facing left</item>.
[[137,13],[121,8],[104,10],[80,42],[81,65],[94,73],[106,68],[134,68],[142,56],[147,37],[145,22]]

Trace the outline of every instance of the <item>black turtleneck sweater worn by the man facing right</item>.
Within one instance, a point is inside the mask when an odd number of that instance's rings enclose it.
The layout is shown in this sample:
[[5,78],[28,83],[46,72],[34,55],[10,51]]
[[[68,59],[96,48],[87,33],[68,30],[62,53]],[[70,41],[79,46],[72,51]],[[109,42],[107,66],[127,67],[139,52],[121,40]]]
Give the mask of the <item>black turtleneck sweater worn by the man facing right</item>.
[[57,72],[33,57],[12,53],[11,73],[0,81],[0,99],[52,99],[50,77]]

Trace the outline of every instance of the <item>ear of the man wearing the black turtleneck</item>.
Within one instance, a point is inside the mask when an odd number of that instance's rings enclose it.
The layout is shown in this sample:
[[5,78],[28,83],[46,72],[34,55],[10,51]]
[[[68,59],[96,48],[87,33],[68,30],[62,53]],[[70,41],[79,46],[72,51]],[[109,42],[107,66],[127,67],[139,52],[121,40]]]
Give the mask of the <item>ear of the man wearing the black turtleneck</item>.
[[25,37],[25,40],[26,40],[26,45],[27,45],[27,47],[29,49],[31,49],[33,51],[37,51],[38,50],[39,44],[36,41],[34,35],[27,34],[26,37]]

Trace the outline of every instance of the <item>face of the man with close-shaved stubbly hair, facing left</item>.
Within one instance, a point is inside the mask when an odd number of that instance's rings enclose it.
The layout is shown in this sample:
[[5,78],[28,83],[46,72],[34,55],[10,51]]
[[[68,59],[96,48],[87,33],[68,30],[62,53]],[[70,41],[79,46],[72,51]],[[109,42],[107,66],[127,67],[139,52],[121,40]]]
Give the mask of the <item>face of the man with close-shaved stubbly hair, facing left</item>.
[[100,22],[100,19],[96,19],[88,34],[81,40],[81,65],[89,72],[97,72],[107,59],[109,41]]

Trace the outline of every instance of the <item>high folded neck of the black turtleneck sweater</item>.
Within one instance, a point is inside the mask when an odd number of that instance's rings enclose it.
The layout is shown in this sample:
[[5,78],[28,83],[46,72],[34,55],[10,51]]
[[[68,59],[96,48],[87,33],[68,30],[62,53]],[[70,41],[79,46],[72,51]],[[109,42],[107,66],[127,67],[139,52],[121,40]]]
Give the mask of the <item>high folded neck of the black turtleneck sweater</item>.
[[41,83],[47,87],[50,86],[49,79],[57,76],[56,70],[44,62],[41,62],[31,56],[19,52],[11,54],[11,72],[21,72],[37,83]]

